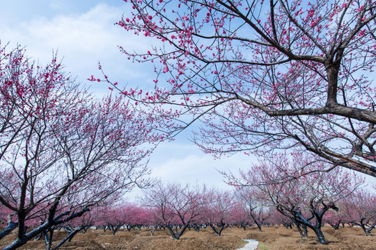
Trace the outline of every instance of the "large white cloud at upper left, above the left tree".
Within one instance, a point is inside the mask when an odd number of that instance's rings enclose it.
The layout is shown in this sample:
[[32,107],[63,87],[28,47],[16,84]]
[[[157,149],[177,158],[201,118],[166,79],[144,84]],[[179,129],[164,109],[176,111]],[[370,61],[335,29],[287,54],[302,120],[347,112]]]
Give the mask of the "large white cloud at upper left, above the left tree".
[[[53,3],[56,8],[58,4],[61,1]],[[148,65],[128,61],[118,49],[121,45],[145,51],[151,46],[151,40],[135,37],[114,25],[123,12],[126,12],[125,8],[101,3],[81,15],[59,15],[52,19],[38,17],[13,27],[1,27],[0,24],[1,39],[2,42],[10,41],[12,47],[16,43],[26,46],[27,54],[42,64],[47,63],[52,58],[52,51],[57,49],[60,58],[64,58],[67,71],[78,75],[79,81],[84,82],[91,74],[101,76],[97,70],[98,61],[115,81],[151,81],[154,76],[152,68],[148,70],[148,76],[145,70],[149,69]],[[105,85],[102,89],[107,87]]]

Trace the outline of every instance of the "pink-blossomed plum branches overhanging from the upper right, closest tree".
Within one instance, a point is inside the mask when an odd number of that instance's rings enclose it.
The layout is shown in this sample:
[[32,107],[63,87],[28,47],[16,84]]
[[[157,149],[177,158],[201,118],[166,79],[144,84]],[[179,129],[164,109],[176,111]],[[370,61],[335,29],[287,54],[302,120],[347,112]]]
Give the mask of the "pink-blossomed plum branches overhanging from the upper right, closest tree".
[[375,1],[127,2],[117,24],[162,45],[120,49],[157,76],[153,92],[113,88],[168,128],[201,119],[216,156],[294,148],[376,176]]

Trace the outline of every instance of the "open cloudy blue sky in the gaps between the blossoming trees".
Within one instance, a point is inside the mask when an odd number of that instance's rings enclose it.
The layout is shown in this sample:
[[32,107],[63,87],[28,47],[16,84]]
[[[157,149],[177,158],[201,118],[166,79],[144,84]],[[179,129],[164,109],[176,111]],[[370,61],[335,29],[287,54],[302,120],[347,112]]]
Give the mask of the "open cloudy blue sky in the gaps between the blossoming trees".
[[[146,88],[155,74],[152,65],[132,63],[120,53],[118,46],[132,50],[150,49],[152,40],[127,33],[117,22],[123,13],[129,12],[122,0],[51,0],[6,1],[0,0],[0,40],[10,42],[10,48],[26,46],[27,55],[40,64],[52,58],[58,51],[65,70],[77,76],[77,81],[91,85],[91,92],[102,95],[108,92],[105,83],[91,83],[86,79],[92,74],[101,76],[98,61],[106,74],[120,84]],[[156,44],[154,44],[156,45]],[[162,181],[182,183],[206,183],[228,188],[216,169],[249,167],[253,158],[242,154],[214,160],[190,142],[189,132],[182,133],[175,142],[164,143],[150,159],[152,176]],[[131,197],[139,194],[132,193]]]

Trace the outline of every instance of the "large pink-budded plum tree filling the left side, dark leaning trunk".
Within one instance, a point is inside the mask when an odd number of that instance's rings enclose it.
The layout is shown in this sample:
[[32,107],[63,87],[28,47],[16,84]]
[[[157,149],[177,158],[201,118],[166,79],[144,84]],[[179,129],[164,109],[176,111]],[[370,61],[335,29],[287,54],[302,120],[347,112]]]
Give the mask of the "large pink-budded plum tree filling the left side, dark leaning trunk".
[[[96,100],[54,56],[40,67],[24,49],[0,58],[0,202],[15,213],[16,249],[127,192],[148,185],[147,158],[162,135],[124,97]],[[45,221],[26,233],[28,221]]]

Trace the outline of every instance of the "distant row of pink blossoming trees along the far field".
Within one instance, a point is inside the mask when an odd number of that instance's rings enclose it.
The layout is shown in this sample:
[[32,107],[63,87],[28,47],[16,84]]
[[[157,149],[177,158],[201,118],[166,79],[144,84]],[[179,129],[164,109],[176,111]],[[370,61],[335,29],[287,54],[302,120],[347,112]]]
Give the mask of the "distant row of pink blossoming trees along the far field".
[[[310,184],[318,183],[307,183],[299,188],[296,186],[295,190],[281,190],[285,185],[281,183],[278,191],[274,189],[273,193],[268,193],[272,194],[269,197],[265,190],[258,187],[230,191],[178,183],[157,183],[154,188],[144,192],[138,203],[118,201],[95,206],[80,217],[42,231],[34,240],[44,238],[47,247],[51,248],[54,231],[64,228],[69,233],[61,242],[55,242],[52,249],[58,249],[72,240],[77,233],[85,233],[88,228],[93,227],[109,230],[113,235],[120,229],[130,231],[150,228],[151,235],[163,229],[168,230],[172,238],[178,240],[187,229],[199,232],[201,228],[210,227],[214,233],[221,235],[229,226],[246,230],[247,227],[256,225],[258,230],[262,231],[262,226],[283,225],[286,228],[296,226],[301,238],[308,237],[307,227],[311,228],[318,240],[325,243],[321,231],[324,224],[330,224],[336,230],[345,224],[360,226],[364,233],[370,236],[376,226],[375,193],[358,188],[338,199],[328,194],[318,194],[321,188],[332,187],[321,183],[319,189],[313,190]],[[308,190],[311,192],[306,192]],[[286,192],[295,193],[294,198],[283,199]],[[8,209],[3,206],[0,208],[0,218],[9,215]],[[27,222],[26,231],[38,228],[45,223],[45,219],[46,214],[39,213]],[[5,226],[4,220],[2,223]],[[0,233],[1,238],[17,227],[17,222],[9,221],[7,225]]]

